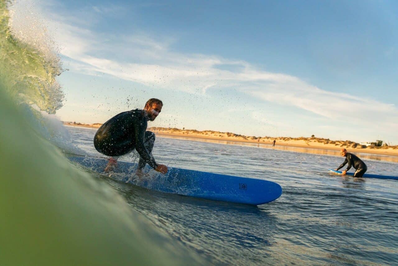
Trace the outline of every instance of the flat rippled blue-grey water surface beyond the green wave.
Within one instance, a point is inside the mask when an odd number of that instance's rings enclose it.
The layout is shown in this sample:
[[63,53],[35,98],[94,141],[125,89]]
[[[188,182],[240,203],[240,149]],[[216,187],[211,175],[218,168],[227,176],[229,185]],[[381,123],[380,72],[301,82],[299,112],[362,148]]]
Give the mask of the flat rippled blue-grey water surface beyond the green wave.
[[[95,129],[68,127],[78,148]],[[158,163],[275,181],[282,196],[258,207],[149,191],[98,177],[154,227],[213,264],[397,264],[398,182],[328,173],[343,157],[157,138]],[[120,160],[136,161],[136,153]],[[398,164],[366,160],[368,173]],[[93,175],[96,175],[93,173]]]

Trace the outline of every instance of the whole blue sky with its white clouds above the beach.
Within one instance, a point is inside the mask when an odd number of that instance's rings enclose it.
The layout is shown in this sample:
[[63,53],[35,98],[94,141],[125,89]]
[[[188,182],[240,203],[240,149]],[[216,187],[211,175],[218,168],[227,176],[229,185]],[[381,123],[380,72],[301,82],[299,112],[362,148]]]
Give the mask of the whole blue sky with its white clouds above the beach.
[[69,69],[61,120],[105,122],[157,97],[149,126],[398,144],[396,1],[31,6]]

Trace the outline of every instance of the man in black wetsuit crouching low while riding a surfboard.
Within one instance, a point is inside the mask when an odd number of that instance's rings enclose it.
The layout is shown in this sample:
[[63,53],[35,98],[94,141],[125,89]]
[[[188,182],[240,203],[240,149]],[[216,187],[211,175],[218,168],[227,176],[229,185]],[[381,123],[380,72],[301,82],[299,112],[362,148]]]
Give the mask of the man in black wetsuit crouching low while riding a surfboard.
[[110,171],[116,166],[119,156],[135,149],[140,155],[137,175],[142,175],[142,169],[146,164],[160,173],[167,173],[167,166],[156,164],[152,156],[155,134],[146,131],[148,120],[155,120],[162,107],[161,100],[149,99],[144,110],[135,109],[117,114],[98,129],[94,136],[94,147],[101,154],[111,156],[105,171]]

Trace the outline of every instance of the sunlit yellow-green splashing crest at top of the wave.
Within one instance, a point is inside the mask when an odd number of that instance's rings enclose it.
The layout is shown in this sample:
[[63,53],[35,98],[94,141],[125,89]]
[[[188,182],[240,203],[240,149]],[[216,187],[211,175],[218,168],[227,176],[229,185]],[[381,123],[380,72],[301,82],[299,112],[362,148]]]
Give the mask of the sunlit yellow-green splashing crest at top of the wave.
[[18,103],[36,104],[40,110],[54,114],[64,100],[62,88],[55,79],[62,73],[60,58],[48,45],[48,38],[37,34],[39,22],[32,27],[13,23],[8,10],[12,4],[13,1],[0,0],[2,88]]

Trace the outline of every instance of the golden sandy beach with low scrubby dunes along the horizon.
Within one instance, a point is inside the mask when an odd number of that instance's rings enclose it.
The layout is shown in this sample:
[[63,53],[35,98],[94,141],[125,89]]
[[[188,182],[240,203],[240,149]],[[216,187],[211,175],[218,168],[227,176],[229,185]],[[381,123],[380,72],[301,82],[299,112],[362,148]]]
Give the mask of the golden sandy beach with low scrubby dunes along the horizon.
[[[99,128],[100,123],[96,124],[82,124],[76,122],[64,122],[68,126],[82,126],[87,128]],[[298,148],[311,148],[311,149],[322,149],[322,150],[340,150],[346,148],[348,152],[361,152],[369,154],[380,154],[388,156],[398,156],[398,146],[368,146],[361,145],[359,143],[349,140],[329,140],[324,138],[291,138],[291,137],[256,137],[256,136],[244,136],[234,134],[230,132],[218,132],[218,131],[198,131],[198,130],[186,130],[178,128],[160,128],[152,127],[148,130],[154,132],[158,136],[170,136],[170,137],[181,137],[181,138],[194,138],[196,140],[223,140],[233,142],[246,142],[256,144],[272,144],[275,140],[277,146],[289,146]]]

